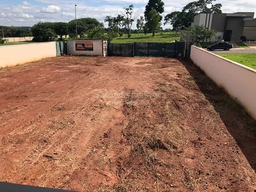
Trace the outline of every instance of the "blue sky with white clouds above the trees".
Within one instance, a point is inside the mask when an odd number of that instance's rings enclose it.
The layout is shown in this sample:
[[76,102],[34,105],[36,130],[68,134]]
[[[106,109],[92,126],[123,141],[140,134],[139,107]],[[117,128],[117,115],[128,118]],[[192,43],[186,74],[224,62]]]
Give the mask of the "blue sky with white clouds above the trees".
[[[180,11],[193,0],[162,0],[164,13]],[[108,15],[120,14],[122,8],[134,5],[135,11],[144,16],[143,12],[148,0],[0,0],[0,26],[33,26],[37,22],[68,22],[75,18],[91,17],[100,22]],[[216,0],[222,4],[223,13],[256,12],[256,0]],[[254,15],[256,18],[256,15]],[[108,24],[105,23],[107,27]],[[132,28],[136,28],[134,22]],[[171,28],[170,25],[163,28]]]

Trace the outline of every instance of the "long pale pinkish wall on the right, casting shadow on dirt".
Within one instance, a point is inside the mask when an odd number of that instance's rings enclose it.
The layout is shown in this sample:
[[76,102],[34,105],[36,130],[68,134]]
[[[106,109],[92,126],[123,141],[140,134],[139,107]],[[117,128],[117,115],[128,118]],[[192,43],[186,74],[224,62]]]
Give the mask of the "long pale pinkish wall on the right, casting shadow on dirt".
[[196,46],[191,47],[190,58],[218,86],[238,98],[256,120],[256,70]]

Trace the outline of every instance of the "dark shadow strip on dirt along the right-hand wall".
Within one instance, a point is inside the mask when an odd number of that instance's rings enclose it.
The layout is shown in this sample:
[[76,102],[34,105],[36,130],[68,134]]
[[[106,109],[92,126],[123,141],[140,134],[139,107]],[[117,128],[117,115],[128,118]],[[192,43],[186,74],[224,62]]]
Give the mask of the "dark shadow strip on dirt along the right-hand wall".
[[[256,170],[256,121],[252,119],[237,100],[228,96],[208,78],[200,68],[189,62],[182,62],[194,78],[200,91],[214,106],[228,132],[236,140],[251,167]],[[197,68],[197,70],[195,70]]]

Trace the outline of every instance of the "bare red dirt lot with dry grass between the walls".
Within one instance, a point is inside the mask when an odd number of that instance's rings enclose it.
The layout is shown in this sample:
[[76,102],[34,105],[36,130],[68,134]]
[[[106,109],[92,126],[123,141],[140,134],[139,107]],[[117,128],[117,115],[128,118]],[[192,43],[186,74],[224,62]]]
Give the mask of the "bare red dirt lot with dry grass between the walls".
[[256,191],[256,122],[188,59],[70,56],[4,68],[0,126],[0,181]]

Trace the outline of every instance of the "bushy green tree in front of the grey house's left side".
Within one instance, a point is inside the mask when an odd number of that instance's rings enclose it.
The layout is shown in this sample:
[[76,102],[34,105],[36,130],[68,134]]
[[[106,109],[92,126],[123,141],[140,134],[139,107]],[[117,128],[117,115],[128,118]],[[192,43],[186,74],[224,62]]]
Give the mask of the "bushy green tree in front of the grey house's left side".
[[190,39],[198,45],[199,42],[204,40],[211,40],[216,35],[216,31],[210,30],[208,27],[205,28],[204,25],[194,25],[193,27],[187,28],[186,32],[182,35],[186,36],[186,40]]

